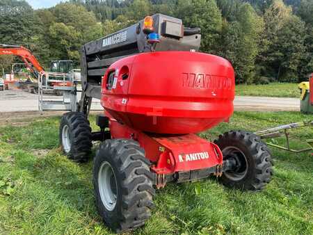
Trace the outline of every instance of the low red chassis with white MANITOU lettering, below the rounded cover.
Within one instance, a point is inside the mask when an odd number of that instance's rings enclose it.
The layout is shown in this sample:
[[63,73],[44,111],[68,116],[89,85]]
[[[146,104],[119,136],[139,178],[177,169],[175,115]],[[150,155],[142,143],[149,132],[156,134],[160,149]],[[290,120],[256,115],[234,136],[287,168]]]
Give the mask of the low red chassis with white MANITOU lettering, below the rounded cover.
[[133,138],[145,149],[145,156],[157,174],[173,174],[188,170],[211,168],[223,164],[223,154],[214,143],[195,134],[160,136],[136,131],[110,122],[112,138]]

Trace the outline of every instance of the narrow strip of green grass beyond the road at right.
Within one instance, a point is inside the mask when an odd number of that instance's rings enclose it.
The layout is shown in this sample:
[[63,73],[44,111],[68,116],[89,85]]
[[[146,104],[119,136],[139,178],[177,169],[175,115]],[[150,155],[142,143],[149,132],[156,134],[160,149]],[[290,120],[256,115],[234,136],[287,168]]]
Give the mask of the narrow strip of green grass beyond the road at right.
[[236,95],[264,97],[300,97],[297,83],[269,83],[266,85],[236,85]]

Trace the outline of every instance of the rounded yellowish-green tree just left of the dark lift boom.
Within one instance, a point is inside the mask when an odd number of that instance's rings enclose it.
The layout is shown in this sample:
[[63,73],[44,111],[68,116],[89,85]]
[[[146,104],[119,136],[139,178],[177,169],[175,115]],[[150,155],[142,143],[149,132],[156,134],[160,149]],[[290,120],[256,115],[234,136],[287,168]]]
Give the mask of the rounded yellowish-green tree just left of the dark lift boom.
[[78,61],[81,46],[103,35],[102,24],[97,22],[94,13],[79,4],[60,3],[51,13],[54,17],[46,15],[45,18],[50,24],[47,42],[51,58]]

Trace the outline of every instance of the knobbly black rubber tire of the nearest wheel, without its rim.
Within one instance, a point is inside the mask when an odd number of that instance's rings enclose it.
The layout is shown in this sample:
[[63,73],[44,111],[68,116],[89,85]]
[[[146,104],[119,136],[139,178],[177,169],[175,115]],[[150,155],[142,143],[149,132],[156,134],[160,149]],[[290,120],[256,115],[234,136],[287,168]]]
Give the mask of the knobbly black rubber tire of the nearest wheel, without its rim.
[[[110,155],[110,156],[109,156]],[[95,158],[94,174],[99,159],[110,157],[118,168],[122,188],[122,202],[119,216],[108,218],[103,210],[101,199],[97,198],[97,209],[104,218],[106,225],[115,232],[125,232],[141,227],[145,220],[150,218],[150,210],[154,208],[152,201],[154,189],[152,188],[153,175],[150,172],[150,161],[145,158],[145,151],[134,140],[115,139],[106,140],[101,144]],[[95,174],[97,175],[97,174]],[[95,184],[96,176],[94,175]],[[96,194],[97,195],[97,194]]]

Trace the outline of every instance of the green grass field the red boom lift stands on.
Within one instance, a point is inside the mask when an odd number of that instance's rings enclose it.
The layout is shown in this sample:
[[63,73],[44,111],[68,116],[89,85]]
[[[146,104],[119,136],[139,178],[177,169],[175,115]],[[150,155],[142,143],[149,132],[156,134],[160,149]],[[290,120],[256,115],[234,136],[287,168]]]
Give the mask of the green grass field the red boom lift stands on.
[[[238,112],[201,136],[214,139],[230,129],[255,131],[307,117]],[[58,149],[59,119],[0,127],[0,234],[111,233],[95,209],[92,161],[72,163]],[[291,145],[300,147],[313,130],[294,135]],[[231,190],[213,177],[168,184],[157,191],[147,225],[129,234],[312,234],[312,156],[276,149],[273,155],[275,175],[261,193]]]

